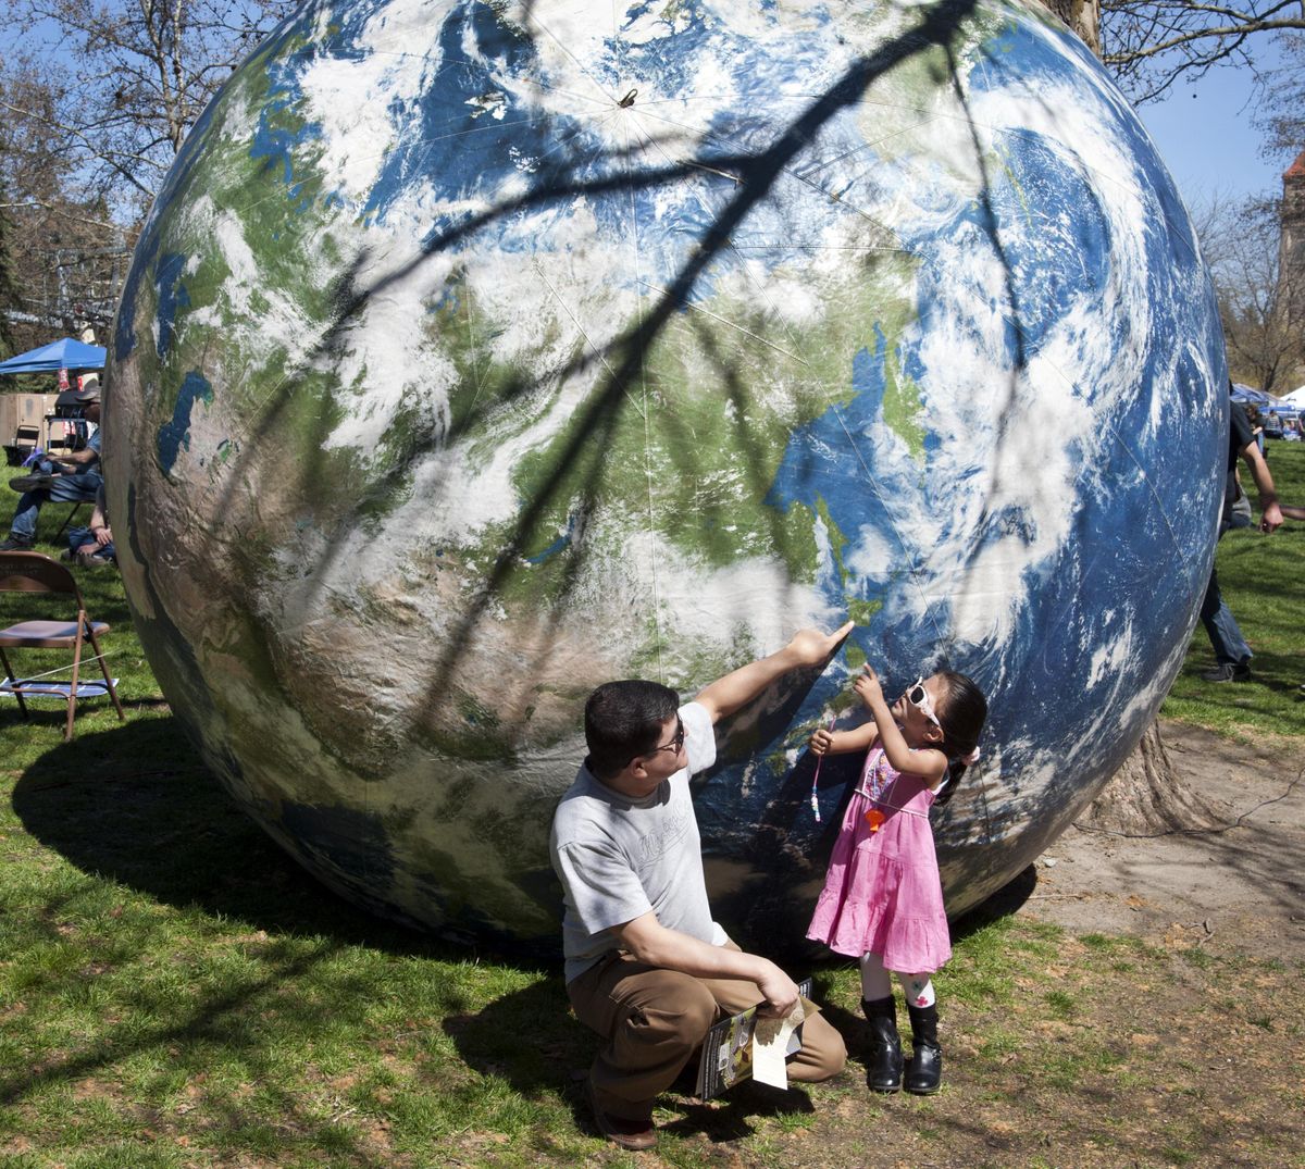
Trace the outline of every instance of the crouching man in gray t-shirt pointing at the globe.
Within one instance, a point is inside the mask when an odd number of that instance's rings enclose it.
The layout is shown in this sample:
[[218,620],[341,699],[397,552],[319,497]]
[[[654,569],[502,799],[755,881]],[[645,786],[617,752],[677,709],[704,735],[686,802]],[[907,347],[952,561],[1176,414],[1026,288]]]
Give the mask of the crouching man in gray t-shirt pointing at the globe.
[[[590,753],[557,805],[551,851],[565,894],[566,993],[606,1041],[590,1105],[624,1148],[656,1143],[652,1102],[713,1023],[757,1003],[784,1016],[797,1002],[792,979],[711,918],[689,776],[715,762],[715,723],[788,671],[823,663],[851,628],[803,630],[685,706],[645,681],[608,682],[585,706]],[[829,1079],[846,1058],[842,1037],[814,1015],[788,1076]]]

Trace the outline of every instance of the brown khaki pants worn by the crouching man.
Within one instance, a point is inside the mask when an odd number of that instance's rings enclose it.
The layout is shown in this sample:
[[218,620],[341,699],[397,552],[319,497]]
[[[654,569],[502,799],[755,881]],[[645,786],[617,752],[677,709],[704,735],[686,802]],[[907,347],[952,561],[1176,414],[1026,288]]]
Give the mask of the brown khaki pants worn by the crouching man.
[[[590,1069],[598,1106],[634,1121],[652,1116],[652,1101],[671,1087],[716,1020],[761,1002],[756,982],[694,979],[621,952],[573,979],[566,993],[579,1020],[607,1041]],[[827,1080],[846,1061],[843,1037],[823,1015],[814,1015],[803,1024],[803,1048],[788,1061],[788,1078]]]

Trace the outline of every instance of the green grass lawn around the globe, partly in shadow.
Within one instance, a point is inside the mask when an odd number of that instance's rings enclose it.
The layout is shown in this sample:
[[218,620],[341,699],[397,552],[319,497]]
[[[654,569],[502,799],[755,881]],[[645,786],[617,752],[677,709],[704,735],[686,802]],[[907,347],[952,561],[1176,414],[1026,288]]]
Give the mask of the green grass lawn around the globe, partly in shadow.
[[[1270,464],[1305,505],[1305,450],[1275,444]],[[61,510],[46,509],[43,535]],[[1255,676],[1201,684],[1198,630],[1167,715],[1305,738],[1302,541],[1301,524],[1223,541]],[[1301,1049],[1298,968],[1010,916],[957,930],[938,1096],[869,1097],[855,1066],[787,1097],[668,1095],[658,1152],[620,1153],[591,1135],[569,1076],[592,1041],[560,971],[325,892],[198,762],[116,573],[78,578],[115,626],[128,720],[87,703],[65,745],[59,707],[22,724],[0,706],[4,1169],[1305,1164],[1300,1066],[1284,1054]],[[817,986],[857,1055],[855,972],[822,968]]]

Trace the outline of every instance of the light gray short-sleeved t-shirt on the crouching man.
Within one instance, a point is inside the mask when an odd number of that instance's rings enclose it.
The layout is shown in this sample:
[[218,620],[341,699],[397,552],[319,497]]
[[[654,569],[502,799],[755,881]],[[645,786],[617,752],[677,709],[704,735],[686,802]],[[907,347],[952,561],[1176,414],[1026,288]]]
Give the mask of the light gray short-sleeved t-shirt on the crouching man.
[[722,945],[702,877],[698,821],[689,776],[716,761],[706,708],[680,707],[689,766],[663,780],[651,796],[630,800],[581,767],[553,814],[549,853],[562,882],[562,952],[566,981],[617,949],[608,933],[649,911],[667,929]]

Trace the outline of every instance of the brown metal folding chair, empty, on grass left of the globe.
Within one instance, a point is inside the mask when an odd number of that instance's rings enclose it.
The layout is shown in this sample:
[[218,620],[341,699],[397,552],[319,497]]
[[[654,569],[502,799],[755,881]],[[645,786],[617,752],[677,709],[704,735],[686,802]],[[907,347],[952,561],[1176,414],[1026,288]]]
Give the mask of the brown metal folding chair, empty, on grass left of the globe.
[[[117,690],[108,676],[104,655],[99,648],[99,634],[108,633],[103,621],[91,621],[86,615],[77,581],[57,560],[42,556],[39,552],[0,552],[0,592],[47,592],[73,598],[77,601],[77,617],[72,621],[20,621],[8,629],[0,629],[0,663],[4,664],[7,682],[4,690],[18,699],[22,716],[27,718],[27,703],[23,694],[33,697],[63,698],[68,702],[68,725],[64,728],[64,741],[73,737],[73,716],[77,714],[78,684],[98,688],[95,697],[108,694],[114,699],[117,718],[125,720],[123,705],[117,701]],[[85,641],[90,641],[99,663],[103,682],[81,682],[81,651]],[[72,650],[73,680],[67,682],[47,682],[42,678],[20,678],[9,665],[5,650]],[[91,697],[87,694],[86,697]]]

